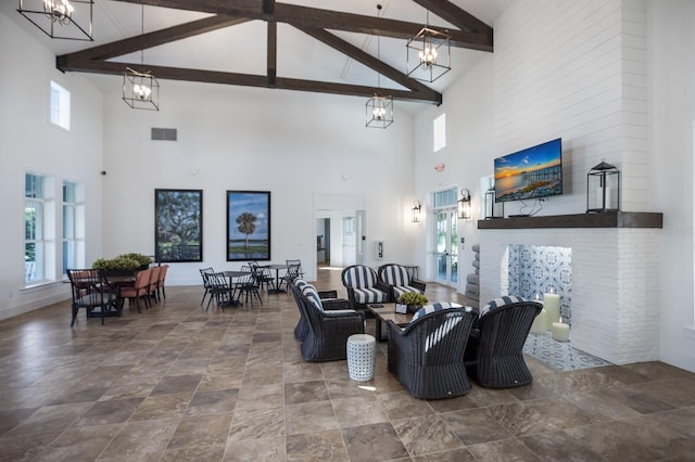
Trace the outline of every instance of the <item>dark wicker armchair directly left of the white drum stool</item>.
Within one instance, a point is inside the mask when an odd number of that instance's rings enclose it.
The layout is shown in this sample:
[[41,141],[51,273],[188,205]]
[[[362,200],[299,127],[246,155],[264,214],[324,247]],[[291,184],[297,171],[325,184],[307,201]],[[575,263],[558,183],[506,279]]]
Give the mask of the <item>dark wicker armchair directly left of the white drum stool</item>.
[[302,343],[302,357],[306,361],[337,361],[346,358],[348,337],[365,333],[365,316],[361,311],[325,311],[320,306],[318,293],[313,285],[302,292],[294,284],[290,291],[298,301],[302,316],[306,318],[308,331]]

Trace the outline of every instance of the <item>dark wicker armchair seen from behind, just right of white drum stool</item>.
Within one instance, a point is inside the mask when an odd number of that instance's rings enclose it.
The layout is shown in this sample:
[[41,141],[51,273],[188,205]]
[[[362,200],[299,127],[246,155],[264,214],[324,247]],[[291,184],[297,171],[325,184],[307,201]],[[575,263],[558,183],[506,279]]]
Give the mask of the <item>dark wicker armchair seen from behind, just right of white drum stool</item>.
[[452,306],[414,317],[404,329],[387,321],[389,371],[416,398],[466,395],[471,385],[466,374],[464,351],[477,317],[477,311],[470,308]]

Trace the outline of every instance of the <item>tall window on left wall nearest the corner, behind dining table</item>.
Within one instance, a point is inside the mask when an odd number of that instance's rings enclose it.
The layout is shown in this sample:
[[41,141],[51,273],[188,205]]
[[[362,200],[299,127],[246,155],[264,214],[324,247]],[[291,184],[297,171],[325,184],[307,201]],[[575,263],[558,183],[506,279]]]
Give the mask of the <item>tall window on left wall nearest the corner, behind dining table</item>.
[[84,204],[81,184],[63,181],[63,275],[84,266]]

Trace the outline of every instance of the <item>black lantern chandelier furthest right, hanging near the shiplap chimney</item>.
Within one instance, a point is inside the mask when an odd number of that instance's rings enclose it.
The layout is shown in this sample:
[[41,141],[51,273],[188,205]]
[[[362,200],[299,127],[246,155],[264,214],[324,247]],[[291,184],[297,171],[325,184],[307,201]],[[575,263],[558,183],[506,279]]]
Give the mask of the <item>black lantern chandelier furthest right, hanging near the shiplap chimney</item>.
[[433,82],[452,69],[452,48],[448,34],[433,29],[427,22],[406,43],[406,74],[418,80]]

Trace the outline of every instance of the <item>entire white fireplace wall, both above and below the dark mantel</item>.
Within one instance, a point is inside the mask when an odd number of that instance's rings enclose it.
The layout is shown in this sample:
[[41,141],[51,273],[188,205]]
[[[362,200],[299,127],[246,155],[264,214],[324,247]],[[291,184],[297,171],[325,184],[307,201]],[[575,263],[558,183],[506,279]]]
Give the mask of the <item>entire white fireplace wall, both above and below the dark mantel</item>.
[[[563,138],[565,193],[539,215],[585,211],[586,172],[604,158],[622,172],[621,209],[649,210],[644,0],[516,1],[495,22],[494,70],[502,154]],[[507,244],[572,247],[572,345],[616,363],[653,360],[659,239],[652,230],[485,231],[480,298],[503,290]]]

